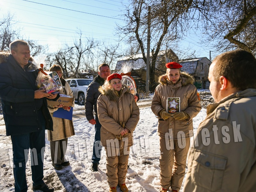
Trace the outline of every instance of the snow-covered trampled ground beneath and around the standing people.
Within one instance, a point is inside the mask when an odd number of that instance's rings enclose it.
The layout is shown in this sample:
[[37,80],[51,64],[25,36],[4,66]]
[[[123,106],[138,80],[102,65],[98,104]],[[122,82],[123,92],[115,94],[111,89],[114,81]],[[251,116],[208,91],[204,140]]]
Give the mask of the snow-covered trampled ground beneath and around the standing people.
[[[207,91],[206,91],[207,92]],[[134,131],[134,145],[130,151],[126,185],[130,191],[157,192],[160,190],[159,138],[157,135],[157,119],[150,109],[151,100],[140,100],[140,121]],[[194,132],[206,116],[206,109],[193,119]],[[102,150],[99,171],[92,172],[92,145],[94,126],[85,118],[84,106],[75,105],[73,122],[76,135],[68,139],[66,157],[70,166],[57,171],[52,166],[50,142],[45,132],[46,148],[44,155],[44,181],[60,192],[105,192],[109,190],[106,176],[106,154]],[[104,149],[104,148],[103,148]],[[14,191],[12,173],[12,143],[5,136],[3,115],[0,115],[0,191]],[[26,168],[28,191],[32,191],[30,162]],[[181,187],[182,191],[183,184]],[[120,192],[120,188],[117,188]],[[39,191],[38,191],[39,192]]]

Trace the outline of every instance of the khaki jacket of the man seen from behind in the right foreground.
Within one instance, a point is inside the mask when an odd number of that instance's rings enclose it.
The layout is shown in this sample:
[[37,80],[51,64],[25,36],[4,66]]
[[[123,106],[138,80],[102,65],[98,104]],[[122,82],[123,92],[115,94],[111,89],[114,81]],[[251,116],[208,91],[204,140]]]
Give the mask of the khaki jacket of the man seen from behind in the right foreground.
[[256,191],[256,89],[207,107],[189,149],[184,192]]

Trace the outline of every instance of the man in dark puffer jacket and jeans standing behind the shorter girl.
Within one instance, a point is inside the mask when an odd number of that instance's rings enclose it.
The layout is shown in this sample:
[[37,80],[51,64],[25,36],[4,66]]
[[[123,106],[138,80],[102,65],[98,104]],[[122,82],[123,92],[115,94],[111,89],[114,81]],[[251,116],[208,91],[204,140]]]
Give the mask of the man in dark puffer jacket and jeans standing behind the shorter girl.
[[[88,86],[88,90],[85,98],[85,116],[90,124],[95,125],[95,137],[93,143],[92,154],[92,172],[98,171],[98,165],[100,164],[101,148],[100,145],[100,127],[101,124],[97,115],[97,99],[100,96],[99,87],[104,84],[104,81],[110,75],[110,68],[108,64],[103,63],[98,67],[98,76],[94,78],[92,83]],[[95,118],[93,116],[93,108],[95,112]]]

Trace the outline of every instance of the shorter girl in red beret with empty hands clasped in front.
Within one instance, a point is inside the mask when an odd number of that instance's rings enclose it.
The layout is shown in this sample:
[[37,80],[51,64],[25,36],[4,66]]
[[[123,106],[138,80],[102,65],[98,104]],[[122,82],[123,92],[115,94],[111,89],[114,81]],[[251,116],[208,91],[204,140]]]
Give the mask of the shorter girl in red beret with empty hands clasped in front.
[[107,178],[109,191],[128,192],[125,185],[130,147],[133,144],[132,132],[138,124],[140,110],[129,89],[122,85],[122,76],[114,73],[107,77],[99,88],[97,100],[98,117],[102,125],[100,141],[106,150]]

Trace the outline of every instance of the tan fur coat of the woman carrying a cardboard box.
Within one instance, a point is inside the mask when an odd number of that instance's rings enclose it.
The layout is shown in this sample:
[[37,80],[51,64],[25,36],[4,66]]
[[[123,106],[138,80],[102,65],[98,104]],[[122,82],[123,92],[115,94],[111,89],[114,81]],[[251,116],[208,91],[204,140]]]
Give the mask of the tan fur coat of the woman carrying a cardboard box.
[[[65,94],[73,97],[73,103],[71,107],[75,106],[75,99],[73,91],[70,89],[68,82],[60,90],[60,94]],[[57,111],[59,108],[54,107],[54,105],[48,105],[48,109],[53,120],[53,131],[48,131],[48,140],[55,141],[61,140],[75,135],[73,122],[68,119],[61,119],[58,117],[53,117],[53,112]]]

